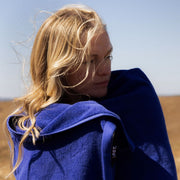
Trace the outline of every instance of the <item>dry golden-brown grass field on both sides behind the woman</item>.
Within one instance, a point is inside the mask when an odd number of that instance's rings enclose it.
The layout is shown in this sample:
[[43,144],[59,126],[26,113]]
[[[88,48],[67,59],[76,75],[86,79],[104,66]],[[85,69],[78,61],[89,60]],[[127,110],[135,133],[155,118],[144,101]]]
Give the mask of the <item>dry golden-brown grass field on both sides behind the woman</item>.
[[[172,151],[174,154],[178,178],[180,179],[180,96],[160,97]],[[9,150],[3,135],[2,123],[5,117],[15,109],[11,101],[0,102],[0,180],[9,172]],[[8,178],[10,180],[13,177]]]

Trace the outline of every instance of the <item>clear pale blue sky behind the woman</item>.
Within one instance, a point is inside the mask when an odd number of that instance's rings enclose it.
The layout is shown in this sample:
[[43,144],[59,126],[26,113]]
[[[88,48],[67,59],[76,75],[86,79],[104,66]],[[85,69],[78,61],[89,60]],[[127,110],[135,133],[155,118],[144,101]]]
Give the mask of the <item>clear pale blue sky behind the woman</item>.
[[[22,57],[26,72],[31,48],[17,42],[33,33],[34,17],[77,3],[95,9],[107,24],[112,70],[139,67],[158,95],[180,95],[180,0],[6,0],[0,11],[0,98],[25,92]],[[47,17],[38,14],[37,26]]]

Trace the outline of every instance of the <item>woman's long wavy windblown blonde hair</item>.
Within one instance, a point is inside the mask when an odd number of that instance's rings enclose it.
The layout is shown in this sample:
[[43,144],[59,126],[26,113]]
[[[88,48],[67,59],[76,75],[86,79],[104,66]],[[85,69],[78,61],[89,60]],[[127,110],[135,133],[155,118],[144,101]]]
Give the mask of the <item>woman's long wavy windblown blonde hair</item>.
[[[19,143],[17,162],[13,173],[22,159],[22,147],[25,139],[31,134],[35,144],[40,129],[35,126],[35,113],[58,101],[70,86],[64,84],[64,78],[70,69],[78,69],[83,60],[88,58],[91,39],[98,32],[105,30],[105,25],[97,13],[82,5],[63,7],[40,27],[31,53],[31,88],[27,95],[18,98],[22,107],[16,114],[25,113],[14,123],[25,131]],[[84,79],[88,75],[87,73]],[[80,84],[79,82],[78,84]],[[30,121],[26,126],[25,121]],[[12,155],[14,145],[11,142]],[[13,161],[12,156],[12,161]]]

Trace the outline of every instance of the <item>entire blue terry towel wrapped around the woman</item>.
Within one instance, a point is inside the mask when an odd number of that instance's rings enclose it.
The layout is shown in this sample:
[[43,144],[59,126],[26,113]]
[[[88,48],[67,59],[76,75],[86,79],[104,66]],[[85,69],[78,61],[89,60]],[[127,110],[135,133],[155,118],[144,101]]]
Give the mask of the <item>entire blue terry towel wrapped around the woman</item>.
[[[19,116],[7,121],[14,162],[24,133],[14,124]],[[17,180],[177,179],[161,106],[139,69],[112,72],[103,99],[48,106],[36,126],[40,138],[24,143]]]

